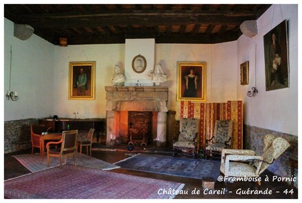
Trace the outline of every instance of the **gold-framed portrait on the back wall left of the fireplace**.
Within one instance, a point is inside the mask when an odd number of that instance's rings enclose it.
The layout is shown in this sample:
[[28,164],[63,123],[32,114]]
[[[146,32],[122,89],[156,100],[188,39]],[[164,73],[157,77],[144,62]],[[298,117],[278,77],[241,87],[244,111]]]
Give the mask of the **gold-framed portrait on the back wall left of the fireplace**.
[[95,62],[69,62],[68,99],[95,99]]

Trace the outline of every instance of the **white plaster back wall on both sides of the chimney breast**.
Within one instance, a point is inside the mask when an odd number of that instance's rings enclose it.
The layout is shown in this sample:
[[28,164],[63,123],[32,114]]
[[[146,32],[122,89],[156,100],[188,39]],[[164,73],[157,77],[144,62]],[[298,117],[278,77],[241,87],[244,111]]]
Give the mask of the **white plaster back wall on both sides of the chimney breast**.
[[[236,42],[217,45],[155,45],[155,63],[161,64],[167,74],[168,81],[161,86],[169,87],[169,109],[180,110],[180,102],[176,102],[176,75],[177,61],[205,61],[207,62],[207,102],[227,101],[236,99]],[[143,55],[143,54],[141,54]],[[213,55],[213,56],[212,56]],[[136,56],[136,55],[135,55]],[[227,57],[226,57],[227,56]],[[132,61],[132,57],[131,61]],[[146,58],[147,60],[147,58]],[[212,62],[212,60],[216,60]],[[69,100],[68,75],[69,62],[95,61],[95,100]],[[106,117],[106,91],[104,86],[111,86],[114,64],[119,64],[124,72],[126,64],[125,45],[73,45],[55,48],[54,73],[56,75],[54,88],[54,114],[59,117],[74,117],[73,112],[78,112],[77,118]],[[212,64],[213,67],[212,73]],[[220,70],[221,64],[224,64]],[[132,68],[131,68],[132,69]],[[147,72],[147,70],[145,71]],[[128,72],[130,74],[130,72]],[[143,74],[143,73],[141,73]],[[141,79],[143,76],[132,75]],[[218,93],[213,93],[214,88]]]

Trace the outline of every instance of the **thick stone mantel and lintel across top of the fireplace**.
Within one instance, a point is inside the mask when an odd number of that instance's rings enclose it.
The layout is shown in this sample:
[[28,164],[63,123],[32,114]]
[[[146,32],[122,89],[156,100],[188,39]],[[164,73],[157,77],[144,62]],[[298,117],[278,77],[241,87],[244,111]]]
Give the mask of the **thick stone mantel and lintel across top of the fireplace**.
[[106,110],[167,112],[165,86],[105,86]]

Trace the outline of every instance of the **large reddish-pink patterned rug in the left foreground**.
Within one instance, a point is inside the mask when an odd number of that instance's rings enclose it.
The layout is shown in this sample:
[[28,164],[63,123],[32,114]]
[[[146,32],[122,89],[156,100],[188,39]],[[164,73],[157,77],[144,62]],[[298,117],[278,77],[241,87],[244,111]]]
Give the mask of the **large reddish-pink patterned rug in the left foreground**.
[[10,199],[169,199],[185,184],[63,165],[4,181]]

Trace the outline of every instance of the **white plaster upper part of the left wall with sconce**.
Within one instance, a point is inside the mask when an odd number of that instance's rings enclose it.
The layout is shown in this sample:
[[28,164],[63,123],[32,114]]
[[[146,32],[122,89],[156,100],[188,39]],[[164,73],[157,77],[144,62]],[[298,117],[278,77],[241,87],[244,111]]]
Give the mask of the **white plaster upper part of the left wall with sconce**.
[[[7,100],[10,85],[18,101]],[[4,121],[42,118],[54,110],[54,45],[33,34],[27,40],[14,37],[14,23],[4,19]]]

